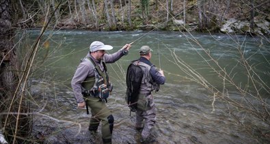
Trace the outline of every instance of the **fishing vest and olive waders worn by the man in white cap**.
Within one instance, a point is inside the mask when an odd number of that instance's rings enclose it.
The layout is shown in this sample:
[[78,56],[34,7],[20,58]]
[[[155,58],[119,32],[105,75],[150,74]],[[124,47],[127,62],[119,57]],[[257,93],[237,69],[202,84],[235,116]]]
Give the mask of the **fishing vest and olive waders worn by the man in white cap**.
[[111,143],[114,118],[105,104],[109,97],[109,92],[112,89],[112,85],[109,83],[107,68],[105,63],[102,62],[101,64],[105,69],[102,72],[90,57],[85,57],[83,60],[89,61],[94,67],[94,76],[85,78],[85,81],[81,84],[85,104],[86,106],[90,106],[92,114],[88,130],[90,130],[90,132],[96,132],[101,121],[103,143]]

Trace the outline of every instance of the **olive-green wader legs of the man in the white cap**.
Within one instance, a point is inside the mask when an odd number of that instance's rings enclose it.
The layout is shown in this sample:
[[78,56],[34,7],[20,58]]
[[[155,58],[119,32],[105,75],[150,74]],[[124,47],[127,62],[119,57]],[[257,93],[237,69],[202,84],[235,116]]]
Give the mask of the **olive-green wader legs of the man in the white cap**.
[[101,121],[103,141],[105,141],[105,143],[111,143],[114,121],[111,111],[109,111],[105,102],[102,102],[99,98],[88,97],[87,105],[90,107],[92,113],[90,128],[97,128],[99,121]]

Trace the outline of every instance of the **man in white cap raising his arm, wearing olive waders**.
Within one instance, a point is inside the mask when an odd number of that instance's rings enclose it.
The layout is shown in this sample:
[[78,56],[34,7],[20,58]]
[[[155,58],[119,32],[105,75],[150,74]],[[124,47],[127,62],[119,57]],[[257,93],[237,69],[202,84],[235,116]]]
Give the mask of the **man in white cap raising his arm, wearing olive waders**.
[[113,63],[127,55],[130,47],[130,44],[126,44],[120,51],[108,55],[105,51],[111,50],[113,46],[98,41],[92,42],[90,53],[81,61],[71,81],[78,108],[90,106],[90,132],[96,132],[100,121],[102,122],[103,143],[111,143],[114,121],[105,104],[112,90],[105,63]]

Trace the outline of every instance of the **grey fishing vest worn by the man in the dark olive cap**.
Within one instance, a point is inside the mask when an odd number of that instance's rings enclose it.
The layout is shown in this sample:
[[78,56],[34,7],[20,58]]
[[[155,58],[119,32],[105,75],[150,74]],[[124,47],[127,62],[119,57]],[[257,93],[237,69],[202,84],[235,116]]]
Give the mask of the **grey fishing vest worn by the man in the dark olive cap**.
[[143,70],[144,76],[141,79],[141,88],[139,90],[140,93],[149,93],[149,91],[159,91],[159,84],[152,80],[152,76],[150,75],[150,68],[148,64],[141,62],[141,61],[134,61],[134,65],[137,65]]

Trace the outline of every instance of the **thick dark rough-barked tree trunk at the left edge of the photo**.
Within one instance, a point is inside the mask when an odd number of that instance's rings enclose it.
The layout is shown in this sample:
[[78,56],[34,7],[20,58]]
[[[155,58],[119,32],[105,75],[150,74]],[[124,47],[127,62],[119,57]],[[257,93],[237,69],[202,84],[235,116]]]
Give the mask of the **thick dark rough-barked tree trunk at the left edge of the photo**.
[[[12,30],[12,16],[9,0],[1,1],[0,17],[0,95],[12,96],[16,87],[16,51],[14,49],[14,31]],[[3,97],[1,97],[3,98]],[[2,109],[1,109],[2,110]]]

